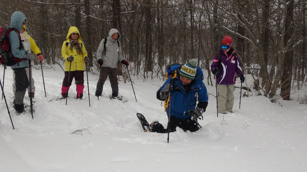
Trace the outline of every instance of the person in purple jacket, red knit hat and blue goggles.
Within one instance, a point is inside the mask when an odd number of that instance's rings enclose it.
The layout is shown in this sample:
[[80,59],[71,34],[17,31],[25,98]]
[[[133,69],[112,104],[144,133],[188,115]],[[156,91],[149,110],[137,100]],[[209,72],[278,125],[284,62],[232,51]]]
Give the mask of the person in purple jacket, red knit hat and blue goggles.
[[233,92],[235,91],[236,74],[240,77],[243,83],[245,78],[242,73],[240,59],[232,48],[232,38],[224,36],[219,55],[216,53],[211,71],[216,75],[217,90],[218,90],[218,113],[225,114],[232,112],[233,100],[235,99]]

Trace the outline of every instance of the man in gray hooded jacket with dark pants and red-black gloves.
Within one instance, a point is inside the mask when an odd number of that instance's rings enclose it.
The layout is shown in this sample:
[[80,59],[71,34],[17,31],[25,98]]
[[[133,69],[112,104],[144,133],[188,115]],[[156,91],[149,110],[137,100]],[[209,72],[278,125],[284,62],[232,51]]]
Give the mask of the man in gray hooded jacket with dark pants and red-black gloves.
[[[118,98],[118,82],[117,82],[117,62],[120,61],[122,64],[129,66],[128,61],[124,60],[122,56],[122,47],[120,46],[120,33],[117,29],[111,29],[109,36],[103,38],[97,49],[97,63],[100,65],[100,77],[97,82],[95,96],[102,96],[103,84],[109,76],[112,95],[110,98]],[[105,48],[104,48],[105,47]]]

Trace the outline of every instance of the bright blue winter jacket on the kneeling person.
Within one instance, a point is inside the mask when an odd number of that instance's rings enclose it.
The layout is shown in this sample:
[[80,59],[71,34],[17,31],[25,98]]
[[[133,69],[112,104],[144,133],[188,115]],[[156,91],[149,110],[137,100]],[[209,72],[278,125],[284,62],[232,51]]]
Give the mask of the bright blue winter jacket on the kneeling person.
[[[178,72],[179,73],[179,72]],[[182,85],[180,82],[180,75],[177,76],[177,78],[173,79],[173,90],[172,90],[172,96],[171,96],[171,116],[174,116],[176,118],[180,118],[182,120],[189,120],[191,118],[190,115],[188,115],[189,110],[195,110],[196,108],[196,101],[198,99],[197,106],[200,106],[200,104],[205,104],[205,106],[202,106],[201,108],[206,110],[207,104],[208,104],[208,94],[207,94],[207,88],[203,82],[203,74],[201,71],[201,74],[198,73],[198,70],[196,72],[197,79],[195,78],[190,84],[187,86]],[[170,82],[171,77],[169,77],[163,86],[158,90],[160,91],[163,89],[163,87]],[[169,108],[166,108],[166,113],[169,113]]]

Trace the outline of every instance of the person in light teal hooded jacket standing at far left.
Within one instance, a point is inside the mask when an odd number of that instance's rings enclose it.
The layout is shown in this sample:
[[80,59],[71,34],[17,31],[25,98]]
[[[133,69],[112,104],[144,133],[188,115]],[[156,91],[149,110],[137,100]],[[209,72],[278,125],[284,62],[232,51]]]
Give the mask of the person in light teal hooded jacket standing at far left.
[[[21,27],[25,25],[26,20],[27,19],[23,13],[15,11],[11,17],[10,27],[20,31]],[[24,46],[20,44],[21,40],[19,32],[11,31],[9,39],[13,56],[20,59],[26,59],[10,66],[15,74],[15,113],[16,115],[20,115],[22,112],[25,112],[23,99],[25,97],[26,89],[29,87],[29,79],[26,74],[26,69],[28,69],[29,66],[28,60],[33,61],[36,57],[32,53],[26,52]]]

